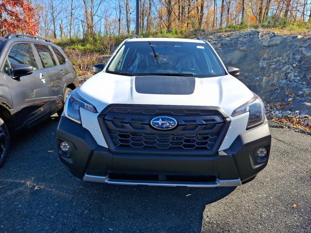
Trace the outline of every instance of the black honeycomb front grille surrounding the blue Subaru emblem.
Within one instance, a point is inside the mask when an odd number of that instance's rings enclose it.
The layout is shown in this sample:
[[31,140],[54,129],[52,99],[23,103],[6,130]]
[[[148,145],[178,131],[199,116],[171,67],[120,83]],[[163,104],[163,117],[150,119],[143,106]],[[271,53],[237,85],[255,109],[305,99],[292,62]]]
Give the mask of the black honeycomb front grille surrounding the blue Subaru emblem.
[[[155,116],[170,116],[178,125],[170,131],[150,126]],[[112,105],[99,122],[114,152],[203,154],[217,152],[229,124],[220,111],[204,107]]]

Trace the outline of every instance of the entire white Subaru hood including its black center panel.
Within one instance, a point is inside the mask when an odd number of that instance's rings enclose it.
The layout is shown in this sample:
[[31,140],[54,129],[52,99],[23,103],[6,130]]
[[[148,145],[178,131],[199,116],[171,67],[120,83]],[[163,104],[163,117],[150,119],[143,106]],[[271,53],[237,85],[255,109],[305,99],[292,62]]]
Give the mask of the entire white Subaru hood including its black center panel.
[[217,106],[228,116],[253,93],[231,75],[194,78],[122,76],[100,72],[87,80],[78,94],[98,112],[111,103]]

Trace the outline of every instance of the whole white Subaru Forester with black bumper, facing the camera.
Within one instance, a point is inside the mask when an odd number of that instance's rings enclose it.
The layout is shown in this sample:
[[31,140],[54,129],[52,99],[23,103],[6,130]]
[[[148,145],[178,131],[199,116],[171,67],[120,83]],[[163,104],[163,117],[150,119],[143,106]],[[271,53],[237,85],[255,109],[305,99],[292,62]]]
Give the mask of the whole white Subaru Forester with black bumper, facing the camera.
[[271,135],[260,98],[197,39],[124,40],[72,91],[61,161],[84,181],[215,187],[254,179]]

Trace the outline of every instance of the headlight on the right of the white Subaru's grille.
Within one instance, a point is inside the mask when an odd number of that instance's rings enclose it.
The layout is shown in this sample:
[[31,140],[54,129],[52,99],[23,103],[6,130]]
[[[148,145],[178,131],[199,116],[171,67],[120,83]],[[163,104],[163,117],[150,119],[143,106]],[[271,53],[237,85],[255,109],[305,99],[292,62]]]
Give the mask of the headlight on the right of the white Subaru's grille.
[[254,94],[251,100],[234,110],[231,116],[239,116],[247,112],[249,112],[249,117],[246,129],[260,125],[264,121],[264,104],[258,95]]

